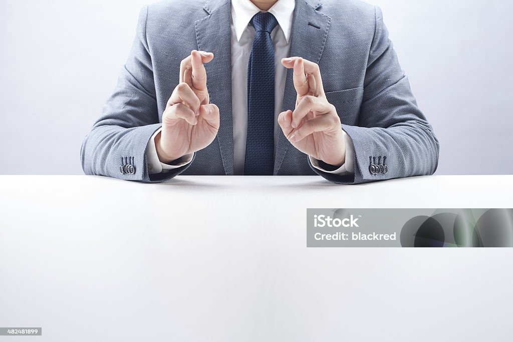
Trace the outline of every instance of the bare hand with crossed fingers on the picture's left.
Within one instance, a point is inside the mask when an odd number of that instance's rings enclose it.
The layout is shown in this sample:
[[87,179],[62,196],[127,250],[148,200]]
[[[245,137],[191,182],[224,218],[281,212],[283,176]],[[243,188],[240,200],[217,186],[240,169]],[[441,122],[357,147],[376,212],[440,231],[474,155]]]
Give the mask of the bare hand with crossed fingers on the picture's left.
[[180,84],[162,114],[162,131],[155,136],[157,155],[169,164],[212,143],[219,131],[219,108],[209,104],[207,73],[213,53],[193,50],[180,64]]

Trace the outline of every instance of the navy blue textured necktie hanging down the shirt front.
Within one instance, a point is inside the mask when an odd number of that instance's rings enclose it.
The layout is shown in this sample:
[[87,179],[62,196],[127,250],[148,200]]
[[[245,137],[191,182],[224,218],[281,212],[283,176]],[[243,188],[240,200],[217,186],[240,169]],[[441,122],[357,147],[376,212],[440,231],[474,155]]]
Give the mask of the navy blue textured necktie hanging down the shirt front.
[[274,169],[274,47],[271,32],[278,25],[269,12],[253,16],[248,64],[248,135],[245,175],[272,175]]

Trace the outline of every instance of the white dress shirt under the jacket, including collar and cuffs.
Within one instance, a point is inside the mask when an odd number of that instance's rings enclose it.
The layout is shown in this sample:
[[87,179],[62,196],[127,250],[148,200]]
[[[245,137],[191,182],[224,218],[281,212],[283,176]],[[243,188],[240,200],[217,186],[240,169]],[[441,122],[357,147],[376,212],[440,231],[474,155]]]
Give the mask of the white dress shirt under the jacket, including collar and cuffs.
[[[274,149],[281,129],[278,124],[287,69],[282,65],[281,59],[289,57],[290,33],[294,14],[294,0],[278,0],[268,12],[272,13],[278,21],[277,27],[271,33],[274,46],[275,76],[274,76]],[[231,2],[231,82],[232,82],[232,113],[233,113],[233,165],[234,174],[244,174],[244,160],[246,157],[246,137],[248,125],[248,89],[247,74],[248,61],[255,36],[253,26],[248,25],[251,18],[260,12],[250,0],[234,0]],[[215,56],[214,56],[215,58]],[[290,108],[293,110],[293,108]],[[148,169],[150,174],[168,172],[170,169],[182,167],[192,160],[188,154],[177,160],[175,165],[161,163],[157,156],[154,138],[161,130],[157,130],[150,139],[146,148]],[[319,167],[319,161],[310,157],[312,166],[329,173],[346,175],[354,172],[354,147],[349,136],[343,132],[346,145],[345,164],[334,171],[326,171]]]

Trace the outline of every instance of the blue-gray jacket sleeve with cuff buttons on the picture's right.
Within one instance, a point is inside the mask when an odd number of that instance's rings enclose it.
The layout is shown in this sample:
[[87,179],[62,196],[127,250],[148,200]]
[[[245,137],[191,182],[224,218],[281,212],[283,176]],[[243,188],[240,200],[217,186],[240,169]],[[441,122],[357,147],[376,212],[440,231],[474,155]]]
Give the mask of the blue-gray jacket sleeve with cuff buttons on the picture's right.
[[375,10],[376,29],[365,73],[359,123],[342,125],[354,146],[354,175],[336,175],[312,168],[337,184],[430,175],[438,166],[438,139],[417,106],[388,39],[381,10],[378,7]]

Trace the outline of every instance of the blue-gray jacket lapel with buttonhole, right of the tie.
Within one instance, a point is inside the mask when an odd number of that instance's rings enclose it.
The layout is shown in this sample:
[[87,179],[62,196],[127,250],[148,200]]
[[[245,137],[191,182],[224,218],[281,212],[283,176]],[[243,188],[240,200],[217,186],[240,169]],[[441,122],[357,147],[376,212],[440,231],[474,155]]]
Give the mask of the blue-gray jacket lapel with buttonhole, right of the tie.
[[[319,64],[326,43],[331,18],[318,12],[316,9],[321,6],[320,2],[313,2],[313,7],[305,0],[297,0],[294,9],[294,18],[292,22],[290,57],[303,57],[308,61]],[[281,111],[294,110],[297,93],[294,89],[293,71],[287,71],[285,81],[285,93],[283,95],[283,105]],[[278,125],[278,124],[276,124]],[[291,144],[283,134],[278,130],[278,143],[274,157],[274,175],[278,174],[282,166],[285,154]]]

